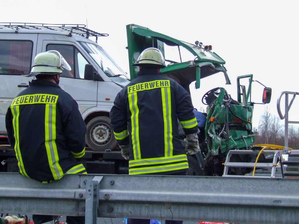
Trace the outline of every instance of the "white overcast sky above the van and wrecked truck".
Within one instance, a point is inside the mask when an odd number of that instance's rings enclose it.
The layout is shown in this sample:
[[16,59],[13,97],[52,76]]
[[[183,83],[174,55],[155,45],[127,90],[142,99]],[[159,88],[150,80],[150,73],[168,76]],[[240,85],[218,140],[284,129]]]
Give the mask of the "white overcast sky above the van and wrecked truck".
[[[253,74],[272,88],[270,112],[278,116],[277,98],[282,91],[299,92],[298,87],[298,1],[1,1],[1,22],[86,24],[91,30],[108,33],[98,43],[129,73],[126,25],[138,24],[173,38],[212,45],[225,60],[232,85],[224,79],[203,79],[192,91],[200,108],[203,93],[224,86],[236,98],[237,76]],[[258,86],[258,85],[257,85]],[[262,97],[260,88],[258,99]],[[298,121],[299,96],[290,111]],[[256,101],[254,99],[254,101]],[[282,102],[282,107],[284,101]],[[253,125],[258,126],[264,105],[255,105]],[[284,110],[283,110],[284,111]]]

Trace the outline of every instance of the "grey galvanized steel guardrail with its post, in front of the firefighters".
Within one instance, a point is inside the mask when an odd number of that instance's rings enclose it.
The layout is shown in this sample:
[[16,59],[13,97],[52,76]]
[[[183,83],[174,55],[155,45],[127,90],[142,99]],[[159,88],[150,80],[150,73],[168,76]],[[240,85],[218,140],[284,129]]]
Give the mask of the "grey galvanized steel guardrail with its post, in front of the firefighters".
[[230,223],[298,223],[297,179],[71,174],[42,184],[0,173],[0,212]]

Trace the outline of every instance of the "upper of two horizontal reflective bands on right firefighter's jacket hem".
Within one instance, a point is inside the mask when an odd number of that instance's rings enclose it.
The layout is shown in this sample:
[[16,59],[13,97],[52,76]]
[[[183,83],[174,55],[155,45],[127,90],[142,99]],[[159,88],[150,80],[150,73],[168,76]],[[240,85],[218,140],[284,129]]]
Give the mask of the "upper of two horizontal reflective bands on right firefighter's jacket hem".
[[179,161],[188,161],[186,154],[172,156],[172,157],[161,157],[161,158],[150,158],[150,159],[139,159],[139,160],[130,160],[129,167],[133,166],[143,166],[143,165],[153,165],[161,163],[172,163]]

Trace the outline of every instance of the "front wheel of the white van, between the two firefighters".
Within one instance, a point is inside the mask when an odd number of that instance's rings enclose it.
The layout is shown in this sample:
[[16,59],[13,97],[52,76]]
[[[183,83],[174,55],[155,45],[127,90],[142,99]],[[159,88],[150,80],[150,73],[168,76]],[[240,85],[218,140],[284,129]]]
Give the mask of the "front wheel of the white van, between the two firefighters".
[[104,152],[106,149],[113,150],[118,147],[110,121],[109,117],[98,116],[87,123],[85,139],[89,148]]

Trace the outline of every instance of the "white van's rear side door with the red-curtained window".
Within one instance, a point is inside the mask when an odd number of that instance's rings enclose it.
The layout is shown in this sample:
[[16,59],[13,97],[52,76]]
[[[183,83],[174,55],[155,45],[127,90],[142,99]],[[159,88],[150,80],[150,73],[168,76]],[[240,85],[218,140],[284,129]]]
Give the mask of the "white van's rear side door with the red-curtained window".
[[13,99],[29,87],[36,53],[37,34],[1,33],[0,36],[0,135],[7,135],[5,114]]

